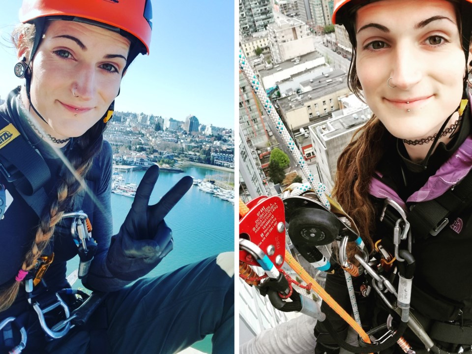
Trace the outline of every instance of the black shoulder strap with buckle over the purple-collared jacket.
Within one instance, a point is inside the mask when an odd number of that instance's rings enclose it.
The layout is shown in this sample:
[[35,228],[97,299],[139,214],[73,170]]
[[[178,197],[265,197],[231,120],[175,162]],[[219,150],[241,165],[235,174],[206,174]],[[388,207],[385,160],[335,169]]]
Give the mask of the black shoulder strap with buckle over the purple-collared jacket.
[[436,236],[449,222],[451,213],[461,211],[472,204],[472,172],[440,197],[413,205],[407,220],[420,238]]

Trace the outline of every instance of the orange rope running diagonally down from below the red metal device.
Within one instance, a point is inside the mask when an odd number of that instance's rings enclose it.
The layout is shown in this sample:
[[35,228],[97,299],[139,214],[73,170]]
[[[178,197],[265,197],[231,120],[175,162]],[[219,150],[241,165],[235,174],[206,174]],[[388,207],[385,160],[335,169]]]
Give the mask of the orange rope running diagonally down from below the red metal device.
[[341,316],[344,321],[346,321],[354,330],[359,334],[359,336],[366,343],[371,343],[370,338],[367,333],[362,329],[362,327],[354,321],[354,319],[318,284],[307,272],[303,269],[298,262],[292,257],[292,254],[285,250],[285,262],[293,269],[295,272],[303,279],[307,284],[312,284],[314,291],[321,296],[324,302],[326,302],[329,307],[331,307],[336,313]]

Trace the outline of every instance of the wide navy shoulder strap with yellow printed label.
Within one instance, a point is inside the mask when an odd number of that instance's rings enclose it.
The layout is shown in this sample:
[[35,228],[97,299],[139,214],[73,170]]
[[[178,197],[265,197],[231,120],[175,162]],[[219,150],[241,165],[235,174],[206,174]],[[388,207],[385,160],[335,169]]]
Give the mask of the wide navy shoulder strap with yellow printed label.
[[51,178],[51,172],[39,152],[5,116],[0,110],[0,173],[41,216],[48,201],[43,186]]

